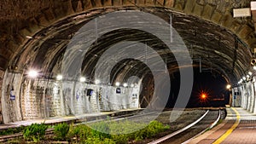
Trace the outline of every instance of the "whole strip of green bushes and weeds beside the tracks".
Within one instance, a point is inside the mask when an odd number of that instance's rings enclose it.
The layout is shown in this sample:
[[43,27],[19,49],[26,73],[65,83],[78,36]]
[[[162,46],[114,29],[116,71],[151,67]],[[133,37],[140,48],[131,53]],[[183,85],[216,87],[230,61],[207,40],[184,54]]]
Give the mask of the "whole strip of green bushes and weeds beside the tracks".
[[[44,138],[45,130],[54,129],[54,134]],[[158,121],[135,123],[129,120],[113,122],[98,122],[90,125],[56,124],[49,127],[46,124],[32,124],[22,127],[24,142],[26,141],[68,141],[70,143],[86,144],[127,144],[129,141],[142,141],[169,129]],[[6,130],[5,133],[14,133]],[[14,142],[15,143],[15,142]]]

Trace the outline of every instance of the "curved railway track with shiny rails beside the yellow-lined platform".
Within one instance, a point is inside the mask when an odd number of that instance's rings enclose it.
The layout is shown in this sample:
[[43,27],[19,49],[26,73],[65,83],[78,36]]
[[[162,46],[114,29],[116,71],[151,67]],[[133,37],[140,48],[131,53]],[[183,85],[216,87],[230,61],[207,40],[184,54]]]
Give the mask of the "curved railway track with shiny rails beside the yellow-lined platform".
[[195,135],[201,135],[204,131],[212,129],[212,127],[217,124],[222,116],[222,112],[218,111],[207,111],[201,118],[192,124],[187,125],[181,130],[177,130],[170,135],[166,135],[151,141],[148,144],[177,144],[177,143],[187,143]]

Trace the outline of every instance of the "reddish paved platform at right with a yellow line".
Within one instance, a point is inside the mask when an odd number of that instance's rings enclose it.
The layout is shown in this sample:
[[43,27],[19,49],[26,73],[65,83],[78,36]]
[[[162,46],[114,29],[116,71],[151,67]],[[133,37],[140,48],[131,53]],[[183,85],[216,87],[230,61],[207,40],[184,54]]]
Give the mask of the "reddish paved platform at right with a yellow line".
[[227,107],[221,124],[189,141],[190,144],[255,144],[256,114],[241,107]]

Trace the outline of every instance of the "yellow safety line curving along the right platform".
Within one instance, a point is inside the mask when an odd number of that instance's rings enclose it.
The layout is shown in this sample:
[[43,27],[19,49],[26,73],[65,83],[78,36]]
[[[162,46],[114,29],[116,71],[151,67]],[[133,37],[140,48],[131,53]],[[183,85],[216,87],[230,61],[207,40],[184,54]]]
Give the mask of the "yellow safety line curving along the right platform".
[[237,125],[240,123],[240,114],[236,111],[235,108],[233,108],[233,107],[231,107],[231,108],[234,112],[236,112],[236,122],[235,122],[235,124],[233,124],[232,127],[230,128],[230,130],[227,130],[224,133],[224,135],[220,136],[218,138],[218,140],[214,141],[212,144],[219,144],[222,141],[224,141],[232,133],[232,131],[236,129]]

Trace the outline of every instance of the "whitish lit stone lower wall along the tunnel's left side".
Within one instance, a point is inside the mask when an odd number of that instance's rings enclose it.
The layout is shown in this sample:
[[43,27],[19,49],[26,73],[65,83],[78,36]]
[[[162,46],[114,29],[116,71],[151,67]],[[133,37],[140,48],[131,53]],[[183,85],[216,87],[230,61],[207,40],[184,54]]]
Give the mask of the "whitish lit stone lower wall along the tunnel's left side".
[[[3,122],[138,108],[138,88],[24,79],[6,72],[3,78]],[[93,89],[92,95],[87,90]],[[14,97],[15,96],[15,97]]]

